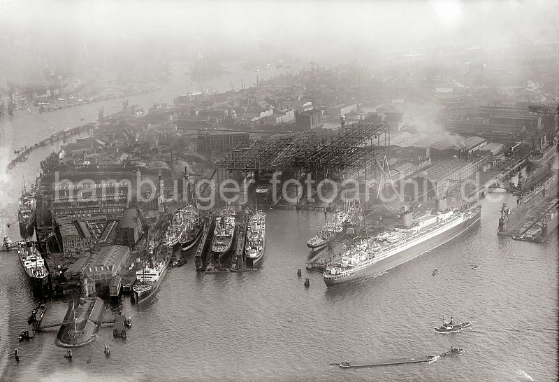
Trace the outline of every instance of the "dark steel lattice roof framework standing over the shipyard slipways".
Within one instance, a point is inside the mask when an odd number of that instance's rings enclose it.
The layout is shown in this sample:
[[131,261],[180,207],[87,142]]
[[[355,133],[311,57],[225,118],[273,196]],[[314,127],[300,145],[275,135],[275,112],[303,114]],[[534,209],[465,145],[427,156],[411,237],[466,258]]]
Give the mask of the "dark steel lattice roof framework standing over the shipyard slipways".
[[336,132],[300,132],[239,143],[218,160],[216,166],[230,171],[279,171],[300,167],[335,167],[343,171],[363,164],[371,153],[384,155],[386,146],[390,146],[388,125],[354,123]]

